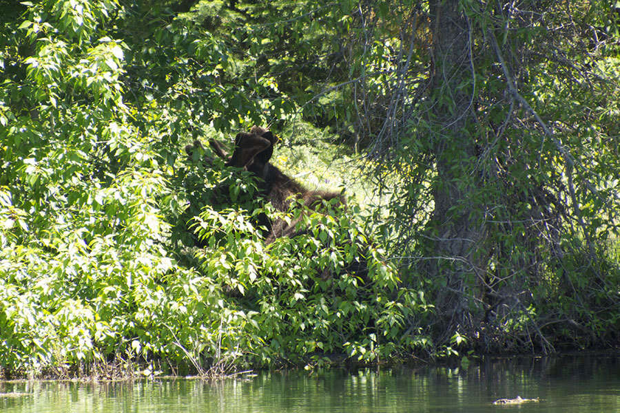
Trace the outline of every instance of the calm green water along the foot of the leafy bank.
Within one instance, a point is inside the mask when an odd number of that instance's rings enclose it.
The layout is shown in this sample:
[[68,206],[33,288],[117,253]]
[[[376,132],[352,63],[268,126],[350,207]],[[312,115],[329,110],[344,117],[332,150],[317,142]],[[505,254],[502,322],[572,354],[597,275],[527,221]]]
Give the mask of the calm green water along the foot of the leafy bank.
[[[488,361],[468,368],[262,372],[217,383],[0,383],[0,412],[620,412],[620,357]],[[517,395],[537,403],[493,405]]]

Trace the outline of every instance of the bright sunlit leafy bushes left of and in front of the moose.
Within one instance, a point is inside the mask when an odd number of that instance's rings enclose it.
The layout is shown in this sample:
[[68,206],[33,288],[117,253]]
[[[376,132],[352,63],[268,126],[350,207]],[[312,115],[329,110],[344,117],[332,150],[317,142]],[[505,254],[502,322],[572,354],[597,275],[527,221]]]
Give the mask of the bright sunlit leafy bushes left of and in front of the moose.
[[[354,202],[305,214],[311,233],[267,248],[251,223],[260,202],[209,204],[218,184],[248,193],[256,182],[178,158],[192,136],[260,123],[265,105],[279,114],[282,100],[256,98],[273,83],[238,80],[225,44],[164,4],[2,6],[5,374],[393,352],[424,300],[396,290]],[[205,240],[195,254],[194,226]],[[356,260],[361,275],[347,271]]]

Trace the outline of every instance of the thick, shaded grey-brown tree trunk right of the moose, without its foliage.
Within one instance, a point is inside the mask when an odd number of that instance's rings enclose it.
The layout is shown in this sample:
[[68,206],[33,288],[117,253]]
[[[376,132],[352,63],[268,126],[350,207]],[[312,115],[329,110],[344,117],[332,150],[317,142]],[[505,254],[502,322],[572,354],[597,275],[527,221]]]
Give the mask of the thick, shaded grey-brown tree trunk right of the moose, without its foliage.
[[480,174],[476,170],[475,102],[471,58],[471,28],[458,0],[431,1],[433,28],[432,137],[436,162],[433,188],[435,209],[429,228],[428,271],[445,279],[436,306],[444,337],[475,328],[475,291],[486,266],[478,248],[484,240],[482,211],[475,198]]

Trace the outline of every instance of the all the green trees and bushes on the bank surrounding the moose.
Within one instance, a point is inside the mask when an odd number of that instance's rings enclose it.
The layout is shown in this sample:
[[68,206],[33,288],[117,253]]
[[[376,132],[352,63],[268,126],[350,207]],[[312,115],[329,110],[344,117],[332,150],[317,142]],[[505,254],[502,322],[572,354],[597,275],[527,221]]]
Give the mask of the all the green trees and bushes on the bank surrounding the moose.
[[[620,6],[543,3],[0,0],[0,375],[617,343]],[[380,205],[182,149],[307,123]]]

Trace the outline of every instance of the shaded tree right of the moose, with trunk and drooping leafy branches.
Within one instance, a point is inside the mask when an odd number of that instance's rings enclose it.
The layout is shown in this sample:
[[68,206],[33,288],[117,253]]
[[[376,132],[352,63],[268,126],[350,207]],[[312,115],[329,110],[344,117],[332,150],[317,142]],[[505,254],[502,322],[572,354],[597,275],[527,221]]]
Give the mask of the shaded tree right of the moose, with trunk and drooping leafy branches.
[[546,352],[566,346],[557,326],[577,346],[616,339],[612,3],[431,1],[418,9],[427,20],[400,26],[407,58],[370,149],[402,165],[395,241],[409,285],[432,291],[437,343]]

